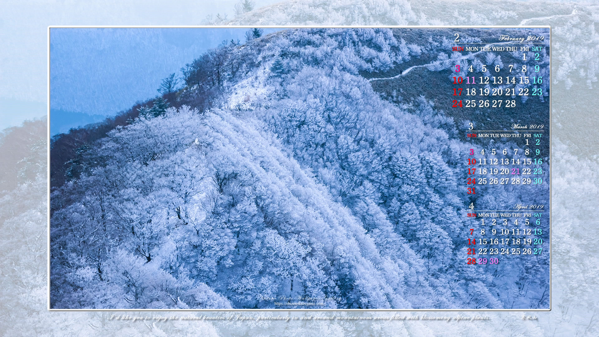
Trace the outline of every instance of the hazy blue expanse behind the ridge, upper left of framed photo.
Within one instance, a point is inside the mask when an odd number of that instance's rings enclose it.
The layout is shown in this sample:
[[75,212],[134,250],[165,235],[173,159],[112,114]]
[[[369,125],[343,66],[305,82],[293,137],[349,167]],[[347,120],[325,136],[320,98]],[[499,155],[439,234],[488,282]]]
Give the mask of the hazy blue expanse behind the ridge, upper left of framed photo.
[[[161,80],[223,40],[245,41],[247,28],[51,28],[51,134],[82,114],[113,116],[156,97]],[[60,124],[53,123],[55,116]],[[72,115],[72,118],[70,118]],[[68,117],[68,118],[65,118]],[[66,124],[65,124],[66,123]],[[66,130],[65,130],[66,128]]]

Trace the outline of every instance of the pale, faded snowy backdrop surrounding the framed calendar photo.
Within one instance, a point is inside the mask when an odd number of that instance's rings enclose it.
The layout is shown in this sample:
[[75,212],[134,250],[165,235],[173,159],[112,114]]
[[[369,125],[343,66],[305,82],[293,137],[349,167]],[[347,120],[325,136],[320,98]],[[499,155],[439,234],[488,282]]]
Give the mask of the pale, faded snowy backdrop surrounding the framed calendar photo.
[[[232,8],[234,2],[229,5]],[[522,321],[520,312],[468,312],[488,316],[483,322],[446,321],[110,321],[112,312],[48,312],[46,160],[25,160],[36,179],[2,182],[11,189],[0,199],[2,259],[0,262],[2,321],[0,332],[10,336],[597,336],[599,309],[597,275],[597,145],[596,109],[599,35],[595,22],[599,6],[582,2],[467,1],[288,1],[260,7],[213,23],[231,25],[551,25],[552,26],[552,311],[527,313],[538,320]],[[0,119],[43,116],[46,97],[46,25],[196,25],[203,23],[207,5],[198,2],[158,4],[128,2],[76,4],[56,2],[18,6],[9,3],[0,17],[3,80]],[[53,7],[45,11],[43,8]],[[94,8],[95,7],[95,8]],[[37,8],[37,9],[34,9]],[[67,9],[69,8],[69,9]],[[111,9],[108,9],[111,8]],[[208,8],[210,10],[210,8]],[[211,9],[212,14],[218,8]],[[230,11],[229,8],[226,11]],[[225,10],[222,11],[224,13]],[[37,17],[40,20],[35,20]],[[33,18],[33,19],[32,19]],[[34,23],[36,22],[36,23]],[[4,38],[6,39],[4,40]],[[20,38],[19,38],[20,37]],[[5,49],[4,49],[5,47]],[[9,81],[10,80],[10,81]],[[11,110],[12,109],[12,110]],[[5,124],[11,125],[11,124]],[[14,124],[13,124],[14,125]],[[44,148],[41,130],[31,128],[31,146]],[[2,146],[2,157],[14,158],[13,147]],[[18,156],[17,156],[18,157]],[[122,314],[122,313],[121,313]],[[130,316],[140,315],[129,312]],[[184,314],[205,315],[205,312]],[[274,315],[275,313],[245,313]],[[278,312],[277,315],[288,314]],[[406,313],[410,315],[410,313]],[[144,312],[143,316],[168,316]],[[178,313],[177,315],[181,315]],[[208,314],[211,315],[211,314]],[[217,315],[217,313],[214,313]],[[292,312],[291,315],[302,315]],[[345,315],[337,313],[337,316]],[[350,316],[386,315],[352,312]],[[389,313],[388,315],[392,315]],[[422,313],[414,312],[413,315]],[[445,316],[427,312],[427,316]],[[457,312],[451,314],[452,317]]]

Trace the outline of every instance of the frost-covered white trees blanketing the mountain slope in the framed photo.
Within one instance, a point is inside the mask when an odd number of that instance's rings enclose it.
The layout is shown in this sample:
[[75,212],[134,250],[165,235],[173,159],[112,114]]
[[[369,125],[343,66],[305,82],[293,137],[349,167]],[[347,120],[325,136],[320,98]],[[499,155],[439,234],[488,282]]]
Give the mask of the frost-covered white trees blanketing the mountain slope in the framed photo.
[[546,257],[464,263],[461,127],[365,78],[439,48],[290,29],[196,59],[176,107],[81,147],[53,192],[52,307],[545,307]]

